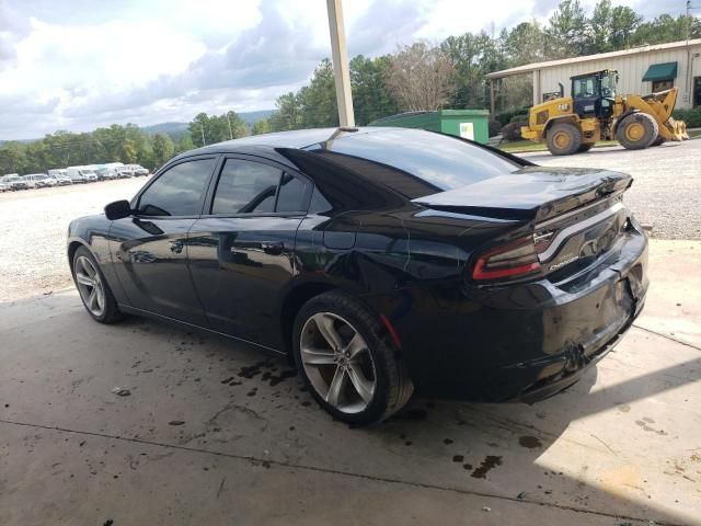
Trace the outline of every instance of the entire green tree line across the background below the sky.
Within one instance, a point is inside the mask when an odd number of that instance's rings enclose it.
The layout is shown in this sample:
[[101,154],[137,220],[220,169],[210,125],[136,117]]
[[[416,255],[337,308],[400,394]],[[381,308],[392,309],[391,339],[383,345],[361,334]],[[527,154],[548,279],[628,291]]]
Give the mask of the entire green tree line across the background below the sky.
[[[548,23],[522,22],[497,35],[485,32],[449,36],[440,43],[417,42],[393,54],[349,62],[356,124],[406,111],[489,106],[485,73],[525,64],[701,37],[694,16],[662,14],[645,21],[634,10],[599,0],[591,13],[579,0],[562,0]],[[497,107],[529,105],[530,78],[504,80]],[[250,129],[235,112],[198,114],[183,134],[145,134],[138,126],[113,124],[92,133],[59,130],[32,142],[0,146],[0,174],[44,172],[95,162],[138,163],[154,169],[194,147],[245,135],[337,126],[333,65],[323,59],[307,85],[280,95],[268,119]]]

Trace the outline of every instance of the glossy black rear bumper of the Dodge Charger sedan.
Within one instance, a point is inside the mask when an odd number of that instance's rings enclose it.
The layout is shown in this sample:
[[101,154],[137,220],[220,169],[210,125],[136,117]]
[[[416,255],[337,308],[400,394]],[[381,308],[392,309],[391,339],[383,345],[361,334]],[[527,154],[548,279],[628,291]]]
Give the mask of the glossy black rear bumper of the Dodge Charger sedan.
[[646,267],[647,240],[635,233],[578,283],[404,289],[389,318],[418,392],[532,403],[620,342],[643,308]]

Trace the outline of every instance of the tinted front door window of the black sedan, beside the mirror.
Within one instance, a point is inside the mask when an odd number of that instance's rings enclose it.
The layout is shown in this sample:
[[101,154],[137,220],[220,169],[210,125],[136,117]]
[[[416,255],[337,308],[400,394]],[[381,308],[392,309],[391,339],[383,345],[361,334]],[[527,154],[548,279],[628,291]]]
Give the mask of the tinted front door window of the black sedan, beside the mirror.
[[141,194],[139,213],[148,216],[199,215],[216,163],[212,158],[175,164]]

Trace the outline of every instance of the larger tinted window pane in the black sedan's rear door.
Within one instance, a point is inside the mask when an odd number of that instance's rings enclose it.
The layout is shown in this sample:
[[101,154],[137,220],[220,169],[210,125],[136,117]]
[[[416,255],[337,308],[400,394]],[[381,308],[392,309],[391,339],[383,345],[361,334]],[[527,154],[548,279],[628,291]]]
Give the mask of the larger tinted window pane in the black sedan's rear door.
[[267,164],[227,159],[219,176],[211,213],[274,211],[277,185],[281,174],[281,170]]

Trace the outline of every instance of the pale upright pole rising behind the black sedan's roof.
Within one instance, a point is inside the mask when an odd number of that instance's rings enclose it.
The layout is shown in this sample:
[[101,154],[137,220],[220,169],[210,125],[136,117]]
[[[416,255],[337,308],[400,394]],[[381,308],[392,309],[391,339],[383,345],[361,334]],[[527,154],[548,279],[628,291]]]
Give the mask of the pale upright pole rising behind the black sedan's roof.
[[353,114],[353,95],[350,94],[350,71],[348,69],[348,52],[343,27],[342,0],[326,0],[329,11],[329,32],[331,33],[331,52],[333,71],[336,81],[336,103],[338,104],[338,122],[341,126],[355,126]]

